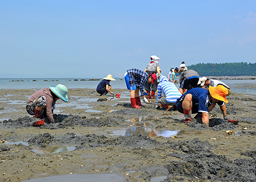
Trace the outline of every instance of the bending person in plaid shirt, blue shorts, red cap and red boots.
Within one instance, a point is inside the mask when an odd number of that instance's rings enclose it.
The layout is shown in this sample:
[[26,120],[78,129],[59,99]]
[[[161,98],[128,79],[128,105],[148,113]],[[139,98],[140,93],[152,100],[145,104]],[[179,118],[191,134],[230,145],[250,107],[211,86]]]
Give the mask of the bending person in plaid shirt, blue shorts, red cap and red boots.
[[139,90],[141,90],[141,96],[143,96],[143,101],[148,104],[146,98],[147,93],[144,92],[144,85],[146,82],[154,84],[156,81],[155,73],[148,75],[141,69],[132,68],[125,73],[125,82],[128,90],[131,90],[131,108],[141,108],[141,98],[139,97]]

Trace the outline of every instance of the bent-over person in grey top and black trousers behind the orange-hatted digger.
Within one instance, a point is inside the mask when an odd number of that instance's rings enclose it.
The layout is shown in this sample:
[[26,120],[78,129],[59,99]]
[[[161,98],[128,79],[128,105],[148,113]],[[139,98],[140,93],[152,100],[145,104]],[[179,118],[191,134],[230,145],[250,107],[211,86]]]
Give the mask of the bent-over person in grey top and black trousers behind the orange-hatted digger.
[[199,82],[199,73],[193,71],[193,69],[189,69],[181,73],[180,75],[180,93],[183,94],[184,90],[190,90],[192,88],[197,88]]

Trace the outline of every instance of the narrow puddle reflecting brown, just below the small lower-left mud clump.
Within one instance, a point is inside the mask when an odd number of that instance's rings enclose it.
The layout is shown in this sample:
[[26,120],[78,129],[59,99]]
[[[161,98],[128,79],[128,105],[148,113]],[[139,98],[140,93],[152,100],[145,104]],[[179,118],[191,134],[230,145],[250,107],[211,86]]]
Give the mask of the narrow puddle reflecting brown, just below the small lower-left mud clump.
[[44,148],[34,148],[32,151],[38,154],[55,154],[59,152],[69,152],[75,150],[74,146],[47,146]]

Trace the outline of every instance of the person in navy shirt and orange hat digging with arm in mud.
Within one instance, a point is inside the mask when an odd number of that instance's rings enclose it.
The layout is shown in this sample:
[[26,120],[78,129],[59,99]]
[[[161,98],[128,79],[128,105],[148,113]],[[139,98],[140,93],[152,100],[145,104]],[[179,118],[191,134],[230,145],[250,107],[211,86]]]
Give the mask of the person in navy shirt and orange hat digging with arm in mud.
[[[221,101],[228,103],[227,94],[228,90],[222,85],[209,86],[209,89],[193,88],[177,99],[176,107],[180,113],[184,114],[184,123],[191,122],[191,114],[197,113],[195,118],[201,118],[204,125],[209,126],[208,111],[212,110],[216,103],[220,104],[222,109]],[[209,101],[212,102],[212,105],[208,108]],[[222,113],[226,119],[226,111],[222,111]]]

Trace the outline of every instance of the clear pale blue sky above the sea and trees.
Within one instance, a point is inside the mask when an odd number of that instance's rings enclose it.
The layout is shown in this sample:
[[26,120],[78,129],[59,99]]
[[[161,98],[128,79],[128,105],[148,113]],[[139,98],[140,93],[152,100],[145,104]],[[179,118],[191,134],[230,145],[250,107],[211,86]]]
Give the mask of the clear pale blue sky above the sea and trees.
[[256,63],[256,1],[0,1],[0,78]]

